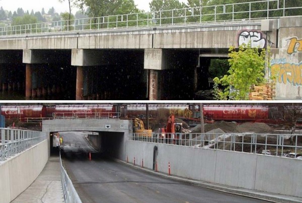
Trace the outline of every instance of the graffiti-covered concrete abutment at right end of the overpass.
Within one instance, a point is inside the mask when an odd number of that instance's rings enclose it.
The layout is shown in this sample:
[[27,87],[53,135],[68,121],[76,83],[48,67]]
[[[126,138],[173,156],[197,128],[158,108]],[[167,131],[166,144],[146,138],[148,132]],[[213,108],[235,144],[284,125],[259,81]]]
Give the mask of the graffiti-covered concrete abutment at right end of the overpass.
[[[301,99],[302,17],[279,19],[278,49],[272,49],[271,76],[276,78],[278,100]],[[301,90],[302,91],[302,90]]]

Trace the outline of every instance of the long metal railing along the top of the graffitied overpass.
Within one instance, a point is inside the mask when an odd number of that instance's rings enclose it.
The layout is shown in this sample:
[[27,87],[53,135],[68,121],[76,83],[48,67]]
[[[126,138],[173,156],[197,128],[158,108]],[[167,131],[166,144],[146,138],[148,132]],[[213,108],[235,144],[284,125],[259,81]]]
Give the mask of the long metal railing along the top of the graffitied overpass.
[[[287,1],[291,0],[283,0],[283,4],[279,3],[280,0],[263,0],[257,2],[75,19],[70,21],[64,20],[27,25],[14,25],[0,27],[0,36],[176,24],[185,25],[192,23],[225,22],[243,19],[269,19],[284,17],[288,10],[302,9],[302,7],[286,8],[285,3]],[[259,5],[262,7],[261,10],[259,10],[259,8],[261,8],[258,7]],[[277,14],[276,11],[278,11]]]

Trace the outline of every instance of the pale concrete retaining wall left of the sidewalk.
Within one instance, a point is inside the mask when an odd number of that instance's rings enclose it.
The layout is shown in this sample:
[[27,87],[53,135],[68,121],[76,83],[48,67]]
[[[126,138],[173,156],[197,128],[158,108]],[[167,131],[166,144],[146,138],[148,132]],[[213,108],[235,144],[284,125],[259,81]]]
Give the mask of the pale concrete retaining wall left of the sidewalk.
[[0,202],[11,202],[43,170],[48,160],[47,140],[0,164]]

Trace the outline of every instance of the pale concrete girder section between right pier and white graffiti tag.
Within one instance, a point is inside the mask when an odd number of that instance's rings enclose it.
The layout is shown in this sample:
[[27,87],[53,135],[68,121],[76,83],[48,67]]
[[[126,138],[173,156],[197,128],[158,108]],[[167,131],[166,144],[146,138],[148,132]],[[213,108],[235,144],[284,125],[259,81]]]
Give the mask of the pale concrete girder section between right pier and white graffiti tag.
[[154,48],[229,48],[237,46],[238,31],[260,29],[260,21],[203,23],[185,28],[157,29]]

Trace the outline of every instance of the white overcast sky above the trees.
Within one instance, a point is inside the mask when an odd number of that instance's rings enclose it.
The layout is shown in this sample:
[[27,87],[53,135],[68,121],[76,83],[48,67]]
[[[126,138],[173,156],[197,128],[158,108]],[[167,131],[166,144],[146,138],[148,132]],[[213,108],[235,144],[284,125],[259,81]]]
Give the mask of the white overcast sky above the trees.
[[[149,2],[152,0],[134,0],[135,5],[138,9],[143,9],[149,11]],[[186,0],[180,0],[180,2],[186,3]],[[44,8],[45,13],[53,7],[55,12],[68,12],[68,1],[65,0],[64,3],[59,3],[58,0],[0,0],[0,7],[8,11],[17,11],[18,8],[22,8],[24,11],[29,11],[33,9],[34,12],[42,10]],[[75,13],[78,9],[73,8],[72,13]]]

